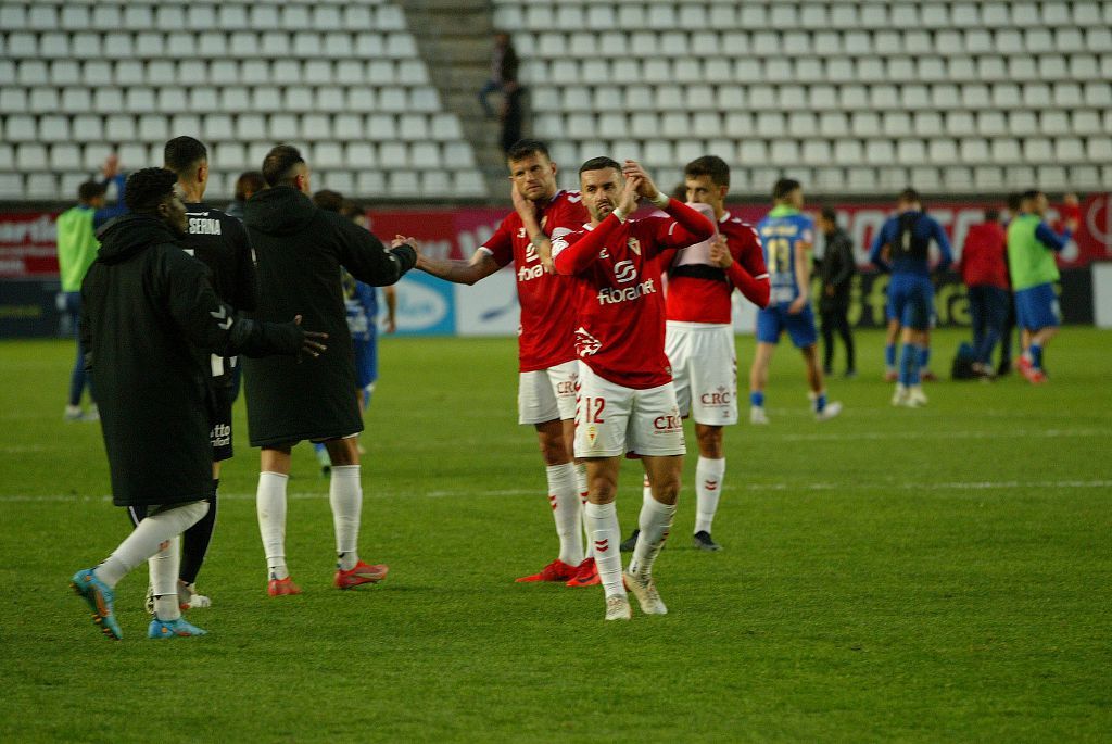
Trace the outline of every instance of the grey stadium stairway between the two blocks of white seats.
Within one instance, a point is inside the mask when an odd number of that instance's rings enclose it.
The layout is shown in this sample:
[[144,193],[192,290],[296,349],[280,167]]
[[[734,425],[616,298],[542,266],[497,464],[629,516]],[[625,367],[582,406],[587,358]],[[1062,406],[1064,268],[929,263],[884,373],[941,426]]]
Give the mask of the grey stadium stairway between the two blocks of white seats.
[[[509,201],[506,169],[498,143],[498,120],[481,115],[477,95],[489,77],[495,32],[493,9],[485,0],[401,0],[409,29],[440,92],[445,109],[459,115],[464,137],[493,200]],[[492,97],[495,105],[495,97]]]

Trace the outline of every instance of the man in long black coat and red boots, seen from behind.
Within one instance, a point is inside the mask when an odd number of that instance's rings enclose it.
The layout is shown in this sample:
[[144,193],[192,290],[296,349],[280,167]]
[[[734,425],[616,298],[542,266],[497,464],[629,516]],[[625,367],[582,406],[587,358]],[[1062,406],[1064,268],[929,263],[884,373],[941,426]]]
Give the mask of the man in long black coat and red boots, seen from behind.
[[[298,365],[289,359],[248,359],[247,423],[251,446],[261,447],[257,507],[267,555],[270,596],[300,594],[286,566],[286,483],[290,449],[302,439],[324,442],[332,463],[329,502],[338,554],[335,584],[348,589],[386,576],[386,566],[359,561],[359,450],[363,430],[351,336],[340,267],[368,285],[396,282],[417,262],[411,245],[387,250],[374,235],[309,198],[309,168],[297,148],[279,145],[262,161],[270,188],[247,201],[244,224],[259,277],[256,317],[276,320],[304,308],[306,325],[331,338],[327,357]],[[415,241],[410,241],[415,242]],[[287,364],[289,363],[289,364]]]

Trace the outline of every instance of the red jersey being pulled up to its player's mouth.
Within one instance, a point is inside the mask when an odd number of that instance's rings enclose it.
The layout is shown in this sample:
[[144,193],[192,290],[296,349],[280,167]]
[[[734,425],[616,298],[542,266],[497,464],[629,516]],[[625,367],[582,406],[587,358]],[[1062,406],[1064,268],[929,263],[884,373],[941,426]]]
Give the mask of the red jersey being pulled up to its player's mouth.
[[677,251],[668,268],[668,320],[729,324],[734,287],[757,307],[768,305],[768,269],[756,229],[725,212],[718,232],[726,236],[734,262],[728,269],[713,265],[709,242]]

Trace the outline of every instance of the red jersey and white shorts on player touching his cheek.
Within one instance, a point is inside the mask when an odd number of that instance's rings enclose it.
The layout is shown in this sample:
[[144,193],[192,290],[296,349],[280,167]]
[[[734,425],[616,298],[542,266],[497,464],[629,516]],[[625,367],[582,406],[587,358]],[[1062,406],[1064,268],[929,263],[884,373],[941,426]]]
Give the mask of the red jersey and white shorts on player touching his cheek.
[[[537,216],[542,229],[556,240],[583,229],[588,219],[578,191],[558,191]],[[543,424],[575,417],[575,308],[572,282],[545,274],[522,218],[514,212],[498,226],[484,250],[499,266],[517,268],[517,298],[522,306],[517,351],[518,423]]]

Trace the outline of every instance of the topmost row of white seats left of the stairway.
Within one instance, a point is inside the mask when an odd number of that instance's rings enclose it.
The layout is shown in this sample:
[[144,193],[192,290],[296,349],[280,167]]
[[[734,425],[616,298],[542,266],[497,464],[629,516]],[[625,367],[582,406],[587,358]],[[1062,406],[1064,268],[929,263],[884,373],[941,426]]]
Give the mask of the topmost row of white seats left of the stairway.
[[111,4],[4,2],[0,6],[0,28],[30,31],[405,31],[399,6],[264,3],[172,3],[127,2]]

